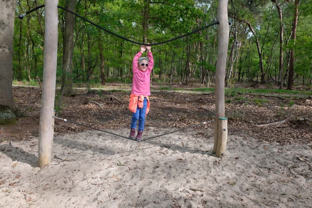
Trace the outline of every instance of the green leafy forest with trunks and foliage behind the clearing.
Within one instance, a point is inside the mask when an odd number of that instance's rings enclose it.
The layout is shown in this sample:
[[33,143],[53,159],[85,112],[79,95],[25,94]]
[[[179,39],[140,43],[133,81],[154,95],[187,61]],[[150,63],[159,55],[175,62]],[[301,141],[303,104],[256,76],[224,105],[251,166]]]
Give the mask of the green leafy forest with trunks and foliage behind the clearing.
[[[14,22],[13,82],[43,76],[44,7],[17,18],[42,0],[18,0]],[[132,41],[157,43],[217,22],[217,1],[60,0],[62,7]],[[226,86],[273,83],[280,89],[310,86],[312,27],[310,0],[228,2]],[[139,46],[58,9],[57,82],[72,93],[76,83],[131,83],[131,60]],[[218,27],[152,47],[152,81],[213,85]],[[154,79],[154,80],[153,80]]]

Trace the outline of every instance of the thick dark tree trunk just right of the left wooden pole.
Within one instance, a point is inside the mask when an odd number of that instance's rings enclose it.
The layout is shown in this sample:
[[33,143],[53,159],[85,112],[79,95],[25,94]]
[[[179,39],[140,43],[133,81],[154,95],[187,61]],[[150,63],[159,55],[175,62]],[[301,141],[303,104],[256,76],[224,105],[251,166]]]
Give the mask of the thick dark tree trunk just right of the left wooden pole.
[[[66,0],[65,7],[68,10],[74,11],[75,0]],[[64,38],[63,38],[63,75],[61,91],[65,96],[75,94],[73,90],[73,79],[72,79],[72,61],[73,61],[73,50],[74,50],[74,25],[75,17],[70,12],[65,11],[65,27],[64,27]]]

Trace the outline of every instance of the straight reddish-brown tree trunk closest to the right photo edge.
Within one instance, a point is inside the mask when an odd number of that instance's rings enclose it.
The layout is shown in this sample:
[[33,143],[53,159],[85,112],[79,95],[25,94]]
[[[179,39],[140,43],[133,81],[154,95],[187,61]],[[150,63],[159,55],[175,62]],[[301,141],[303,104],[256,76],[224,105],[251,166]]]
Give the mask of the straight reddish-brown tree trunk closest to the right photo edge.
[[[297,30],[297,23],[298,23],[298,4],[299,0],[295,0],[295,13],[294,13],[294,21],[293,21],[293,28],[291,39],[296,41],[296,30]],[[288,74],[288,82],[287,82],[287,89],[292,90],[293,82],[294,82],[294,68],[295,68],[295,49],[291,48],[290,50],[290,63],[289,63],[289,74]]]

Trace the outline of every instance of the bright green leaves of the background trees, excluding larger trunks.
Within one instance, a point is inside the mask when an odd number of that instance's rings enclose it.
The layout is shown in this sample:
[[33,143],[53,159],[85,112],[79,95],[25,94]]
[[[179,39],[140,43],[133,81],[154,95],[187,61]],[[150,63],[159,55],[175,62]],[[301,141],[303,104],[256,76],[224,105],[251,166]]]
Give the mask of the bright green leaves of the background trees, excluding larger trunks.
[[[44,4],[44,1],[38,0],[37,4]],[[65,1],[59,1],[59,4],[65,6]],[[146,22],[148,27],[145,33],[147,42],[155,43],[180,36],[215,22],[217,6],[217,1],[168,0],[151,2],[143,0],[92,0],[76,2],[75,12],[116,34],[134,41],[143,42],[143,14],[145,7],[148,7],[149,18]],[[28,3],[19,1],[19,6],[16,7],[16,16],[34,7],[34,1],[29,1]],[[283,3],[282,9],[285,40],[292,28],[293,3]],[[266,75],[278,76],[280,20],[275,5],[271,1],[233,1],[229,3],[228,10],[229,13],[236,16],[236,19],[230,18],[233,24],[230,26],[232,33],[229,36],[228,47],[228,56],[233,51],[234,57],[239,57],[234,63],[234,72],[235,70],[241,70],[240,75],[243,76],[243,80],[255,81],[257,78],[259,80],[261,71],[259,69],[259,55],[256,46],[257,37],[261,47],[261,56]],[[300,2],[300,19],[298,21],[296,42],[292,40],[288,44],[284,42],[284,59],[286,51],[288,53],[288,49],[292,48],[295,51],[295,76],[298,79],[305,77],[306,82],[312,78],[312,54],[307,53],[307,51],[312,50],[312,38],[310,35],[312,33],[310,27],[311,11],[311,0]],[[39,12],[42,15],[37,16],[36,12],[32,12],[24,17],[22,21],[18,18],[14,20],[13,77],[15,80],[13,80],[13,84],[18,84],[17,81],[23,80],[23,84],[37,85],[35,77],[37,75],[40,78],[43,77],[44,37],[38,22],[41,21],[44,26],[44,8],[39,9]],[[65,12],[59,9],[58,15],[59,25],[64,25]],[[27,18],[29,18],[28,25]],[[242,20],[250,23],[256,35],[251,33],[249,27]],[[99,54],[102,52],[105,74],[110,75],[106,82],[130,84],[132,80],[128,76],[131,76],[132,73],[132,58],[139,51],[139,46],[102,31],[78,17],[76,17],[75,21],[75,48],[72,54],[72,74],[67,75],[67,77],[71,76],[77,85],[79,84],[83,87],[85,87],[85,82],[90,87],[101,87],[101,61]],[[60,85],[59,83],[63,75],[64,27],[58,27],[58,30],[56,76],[57,85]],[[232,50],[232,43],[235,40],[233,34],[235,32],[239,48]],[[191,76],[199,78],[201,76],[200,68],[203,66],[212,77],[213,73],[216,72],[217,37],[217,26],[212,26],[202,30],[201,34],[196,32],[182,39],[152,46],[155,74],[158,75],[161,68],[162,74],[167,76],[170,67],[173,65],[177,69],[176,76],[181,77],[181,73],[186,74],[185,64],[188,59],[192,70],[189,73]],[[199,48],[200,41],[202,48]],[[102,44],[101,49],[99,43]],[[27,44],[29,45],[27,46]],[[187,56],[187,46],[190,46],[189,57]],[[239,56],[236,56],[237,53],[239,53]],[[200,57],[201,55],[203,56],[203,61]],[[144,56],[146,56],[146,53],[144,53]],[[230,64],[230,62],[231,60],[228,60],[227,64]],[[119,78],[120,69],[122,70],[122,79]],[[31,78],[29,82],[26,81],[28,80],[28,71]],[[115,77],[112,77],[113,71],[115,71]],[[237,81],[238,73],[234,72],[232,76],[235,75],[235,77],[228,81],[230,84]],[[283,71],[284,74],[285,70]],[[125,78],[124,76],[127,77]],[[177,80],[180,80],[180,78]],[[168,77],[161,80],[153,79],[153,81],[158,83],[167,82]],[[199,89],[199,91],[202,90]],[[295,94],[293,92],[285,93]]]

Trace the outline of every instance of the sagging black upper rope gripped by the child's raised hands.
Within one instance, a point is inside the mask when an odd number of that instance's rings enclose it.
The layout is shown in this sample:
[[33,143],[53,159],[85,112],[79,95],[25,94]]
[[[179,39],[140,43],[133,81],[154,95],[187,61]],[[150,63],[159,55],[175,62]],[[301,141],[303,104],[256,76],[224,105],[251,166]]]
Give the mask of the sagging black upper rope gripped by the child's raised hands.
[[[41,5],[41,6],[38,6],[38,7],[36,7],[36,8],[33,8],[32,10],[29,10],[29,11],[26,12],[25,14],[20,14],[20,15],[18,15],[18,18],[23,19],[27,14],[29,14],[29,13],[31,13],[31,12],[33,12],[33,11],[36,11],[37,9],[40,9],[40,8],[42,8],[42,7],[44,7],[44,6],[45,6],[45,5],[43,4],[43,5]],[[77,16],[77,17],[83,19],[83,20],[85,20],[86,22],[89,22],[91,25],[94,25],[95,27],[98,27],[98,28],[100,28],[101,30],[104,30],[104,31],[106,31],[106,32],[108,32],[108,33],[110,33],[110,34],[116,36],[116,37],[119,37],[119,38],[121,38],[121,39],[123,39],[123,40],[125,40],[125,41],[129,41],[129,42],[131,42],[131,43],[135,43],[135,44],[143,45],[143,46],[156,46],[156,45],[160,45],[160,44],[163,44],[163,43],[168,43],[168,42],[177,40],[177,39],[179,39],[179,38],[183,38],[183,37],[185,37],[185,36],[191,35],[191,34],[196,33],[196,32],[198,32],[198,31],[201,31],[201,30],[203,30],[203,29],[205,29],[205,28],[207,28],[207,27],[211,27],[211,26],[213,26],[213,25],[219,24],[219,22],[214,22],[214,23],[211,23],[211,24],[206,25],[206,26],[204,26],[204,27],[201,27],[201,28],[198,28],[198,29],[196,29],[196,30],[193,30],[192,32],[188,32],[188,33],[186,33],[186,34],[184,34],[184,35],[175,37],[175,38],[173,38],[173,39],[170,39],[170,40],[167,40],[167,41],[158,42],[158,43],[151,43],[151,44],[148,44],[148,43],[140,43],[140,42],[133,41],[133,40],[130,40],[130,39],[128,39],[128,38],[125,38],[125,37],[123,37],[123,36],[120,36],[120,35],[118,35],[118,34],[112,32],[112,31],[109,31],[109,30],[105,29],[104,27],[102,27],[102,26],[100,26],[100,25],[98,25],[98,24],[96,24],[96,23],[94,23],[94,22],[92,22],[92,21],[86,19],[85,17],[82,17],[82,16],[80,16],[79,14],[77,14],[77,13],[75,13],[75,12],[69,10],[69,9],[66,9],[65,7],[61,7],[61,6],[59,6],[59,5],[58,5],[57,7],[60,8],[60,9],[65,10],[65,11],[67,11],[67,12],[72,13],[73,15],[75,15],[75,16]],[[232,22],[229,21],[229,25],[231,25],[231,24],[232,24]]]

